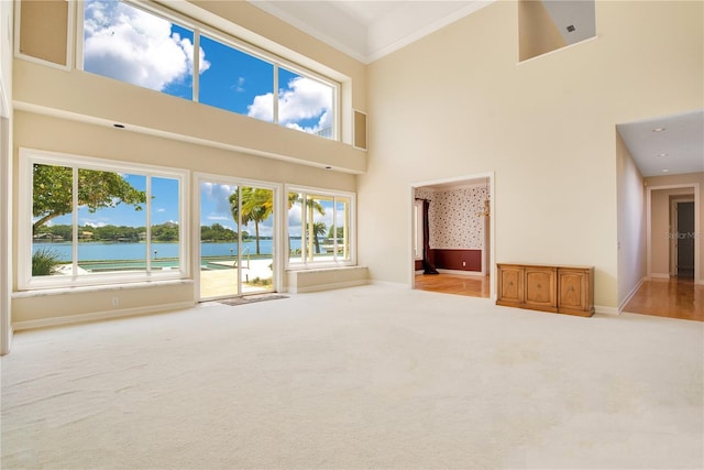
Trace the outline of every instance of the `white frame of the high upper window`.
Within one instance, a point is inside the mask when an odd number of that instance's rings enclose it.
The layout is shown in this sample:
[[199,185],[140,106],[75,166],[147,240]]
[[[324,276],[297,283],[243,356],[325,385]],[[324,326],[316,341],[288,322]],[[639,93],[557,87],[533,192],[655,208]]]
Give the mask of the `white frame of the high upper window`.
[[[207,35],[209,39],[213,40],[213,41],[218,41],[221,42],[223,45],[230,46],[235,48],[237,51],[248,54],[256,59],[260,59],[262,62],[266,62],[268,64],[273,65],[273,74],[274,74],[274,81],[273,81],[273,86],[274,89],[271,90],[273,94],[273,98],[274,98],[274,109],[273,109],[273,121],[271,123],[274,123],[278,127],[283,127],[279,122],[278,122],[278,91],[280,88],[280,84],[278,83],[278,69],[279,67],[283,67],[287,70],[290,70],[293,73],[296,73],[302,77],[306,78],[310,78],[312,80],[316,81],[320,81],[321,84],[329,86],[332,88],[332,112],[333,112],[333,117],[332,117],[332,135],[330,138],[324,138],[321,135],[317,135],[315,133],[310,133],[310,132],[304,132],[306,134],[309,135],[316,135],[318,138],[321,139],[326,139],[326,140],[332,140],[332,141],[337,141],[340,142],[341,141],[341,122],[342,122],[342,117],[341,117],[341,88],[342,88],[342,84],[340,84],[339,81],[327,77],[320,73],[317,73],[310,68],[307,68],[305,66],[301,66],[299,64],[296,64],[292,61],[286,59],[285,57],[282,57],[279,55],[274,54],[273,52],[266,51],[264,48],[257,47],[253,44],[250,44],[234,35],[231,35],[229,33],[222,32],[221,30],[218,30],[216,28],[209,26],[206,23],[202,23],[196,19],[189,18],[185,14],[178,13],[174,10],[169,10],[166,9],[165,7],[158,6],[154,2],[138,2],[134,0],[114,0],[114,1],[120,1],[124,4],[128,4],[130,7],[140,9],[142,11],[144,11],[145,13],[150,13],[153,14],[155,17],[158,17],[163,20],[166,20],[170,23],[174,23],[180,28],[187,29],[187,30],[193,30],[194,32],[194,41],[193,41],[193,45],[194,45],[194,69],[191,70],[193,73],[193,95],[190,97],[190,100],[193,102],[199,102],[198,101],[198,97],[199,97],[199,91],[200,91],[200,54],[196,53],[196,51],[199,51],[200,48],[200,35],[205,34]],[[75,28],[76,30],[76,68],[79,70],[84,70],[84,42],[85,42],[85,30],[84,30],[84,24],[85,24],[85,1],[80,2],[80,7],[76,8],[76,23],[77,26]],[[69,34],[70,36],[70,34]],[[96,74],[98,75],[98,74]],[[103,75],[99,75],[101,77],[105,77]],[[106,78],[111,78],[111,77],[106,77]],[[138,85],[135,85],[138,86]],[[164,95],[168,95],[165,94],[164,91],[160,91]],[[218,109],[222,109],[222,108],[218,108]],[[222,109],[224,111],[228,112],[232,112],[234,114],[238,116],[243,116],[245,118],[249,119],[256,119],[256,118],[251,118],[246,114],[240,114],[238,112],[234,111],[230,111],[228,109]],[[258,120],[258,119],[257,119]],[[262,121],[262,122],[267,122],[267,121]]]

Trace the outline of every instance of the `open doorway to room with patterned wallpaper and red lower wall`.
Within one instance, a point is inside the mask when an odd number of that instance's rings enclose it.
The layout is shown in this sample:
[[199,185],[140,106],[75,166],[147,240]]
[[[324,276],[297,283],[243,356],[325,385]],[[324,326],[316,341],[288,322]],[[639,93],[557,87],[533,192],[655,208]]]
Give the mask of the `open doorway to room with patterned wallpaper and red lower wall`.
[[493,174],[411,186],[413,288],[495,297]]

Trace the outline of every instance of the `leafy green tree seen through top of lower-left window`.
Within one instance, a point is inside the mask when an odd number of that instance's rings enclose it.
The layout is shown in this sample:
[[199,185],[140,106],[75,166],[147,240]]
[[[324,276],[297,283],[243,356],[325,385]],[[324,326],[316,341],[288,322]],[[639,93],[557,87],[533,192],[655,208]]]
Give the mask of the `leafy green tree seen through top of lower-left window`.
[[[55,217],[74,210],[73,168],[35,164],[33,168],[33,232]],[[119,173],[78,170],[78,205],[89,212],[124,203],[142,210],[146,193],[134,188]]]

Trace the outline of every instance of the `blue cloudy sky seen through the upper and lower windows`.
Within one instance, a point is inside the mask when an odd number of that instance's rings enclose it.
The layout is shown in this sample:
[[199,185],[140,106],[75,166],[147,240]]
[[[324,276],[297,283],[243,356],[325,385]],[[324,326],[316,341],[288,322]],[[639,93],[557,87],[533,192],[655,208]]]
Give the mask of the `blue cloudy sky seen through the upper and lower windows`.
[[[87,0],[84,17],[84,69],[184,99],[194,99],[194,58],[200,64],[196,100],[267,122],[274,121],[274,65],[242,53],[207,34],[194,47],[194,32],[154,14],[116,0]],[[278,122],[316,133],[331,127],[333,89],[292,70],[278,69]],[[138,189],[145,177],[125,175]],[[152,223],[178,221],[174,181],[153,178]],[[201,225],[221,223],[235,229],[228,203],[234,186],[201,185]],[[296,214],[298,212],[298,214]],[[331,223],[332,209],[328,210]],[[80,226],[124,225],[143,227],[144,211],[124,204],[89,214],[79,209]],[[290,222],[300,223],[294,208]],[[70,216],[52,223],[70,223]],[[253,225],[248,231],[254,232]],[[271,221],[260,233],[271,234]],[[297,233],[292,233],[297,234]],[[298,233],[299,234],[299,233]]]

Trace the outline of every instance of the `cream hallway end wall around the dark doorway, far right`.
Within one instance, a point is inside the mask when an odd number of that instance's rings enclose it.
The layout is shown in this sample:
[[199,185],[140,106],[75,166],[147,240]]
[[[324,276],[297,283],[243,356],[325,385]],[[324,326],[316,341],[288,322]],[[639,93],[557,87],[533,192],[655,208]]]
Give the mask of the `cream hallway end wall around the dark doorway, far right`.
[[[693,185],[698,184],[700,198],[695,200],[700,216],[700,232],[695,233],[700,259],[698,284],[704,284],[704,173],[685,175],[656,176],[646,178],[646,185],[651,194],[651,243],[650,271],[653,276],[666,277],[670,273],[670,196],[694,194]],[[685,188],[668,189],[668,186],[688,186]],[[692,186],[689,186],[692,185]],[[659,187],[666,187],[658,189]]]

